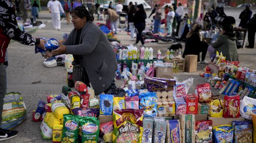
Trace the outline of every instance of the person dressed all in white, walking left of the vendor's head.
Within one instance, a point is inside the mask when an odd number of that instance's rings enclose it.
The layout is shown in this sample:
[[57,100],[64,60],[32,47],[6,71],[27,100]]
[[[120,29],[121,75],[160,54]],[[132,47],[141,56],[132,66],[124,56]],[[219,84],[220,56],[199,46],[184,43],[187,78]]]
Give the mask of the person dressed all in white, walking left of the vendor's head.
[[52,17],[52,24],[55,30],[60,30],[60,12],[64,13],[64,10],[60,4],[59,1],[51,0],[47,4],[47,8],[49,9],[49,12],[51,13]]

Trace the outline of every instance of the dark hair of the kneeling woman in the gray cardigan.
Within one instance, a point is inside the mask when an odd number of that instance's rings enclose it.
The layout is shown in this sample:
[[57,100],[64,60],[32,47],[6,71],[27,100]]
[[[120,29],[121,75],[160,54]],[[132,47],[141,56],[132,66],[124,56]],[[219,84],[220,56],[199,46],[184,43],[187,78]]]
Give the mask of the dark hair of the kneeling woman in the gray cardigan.
[[86,17],[87,21],[93,21],[94,17],[92,15],[90,15],[89,11],[86,9],[86,7],[84,6],[79,6],[76,7],[75,9],[73,9],[70,14],[74,13],[76,16],[78,16],[79,18],[83,18]]

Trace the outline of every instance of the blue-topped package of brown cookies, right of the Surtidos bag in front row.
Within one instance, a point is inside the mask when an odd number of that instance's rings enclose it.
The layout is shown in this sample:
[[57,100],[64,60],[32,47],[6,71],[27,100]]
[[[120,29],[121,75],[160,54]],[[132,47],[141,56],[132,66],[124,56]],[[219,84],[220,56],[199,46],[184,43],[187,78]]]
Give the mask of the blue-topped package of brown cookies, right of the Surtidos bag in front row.
[[233,121],[234,143],[252,142],[252,122]]

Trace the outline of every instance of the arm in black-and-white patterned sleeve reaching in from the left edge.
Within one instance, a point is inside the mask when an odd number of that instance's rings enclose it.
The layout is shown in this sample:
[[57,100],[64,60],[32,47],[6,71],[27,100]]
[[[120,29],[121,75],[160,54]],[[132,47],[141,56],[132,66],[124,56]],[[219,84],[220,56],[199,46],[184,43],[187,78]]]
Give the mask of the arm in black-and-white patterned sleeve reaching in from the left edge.
[[[4,2],[4,3],[3,3]],[[2,21],[2,29],[4,33],[11,39],[25,44],[25,45],[44,45],[44,40],[40,40],[39,38],[34,38],[30,34],[21,31],[18,28],[15,9],[11,3],[11,1],[2,1],[2,7],[5,9],[4,12],[0,14],[0,20]]]

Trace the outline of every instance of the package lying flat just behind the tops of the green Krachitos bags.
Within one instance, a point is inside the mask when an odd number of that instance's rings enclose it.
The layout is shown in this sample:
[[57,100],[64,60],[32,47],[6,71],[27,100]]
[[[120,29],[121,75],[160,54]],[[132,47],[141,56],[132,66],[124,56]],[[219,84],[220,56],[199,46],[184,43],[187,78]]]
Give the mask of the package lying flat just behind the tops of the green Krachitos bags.
[[74,115],[81,117],[99,117],[98,108],[74,108],[72,109]]

